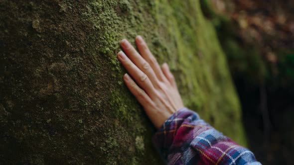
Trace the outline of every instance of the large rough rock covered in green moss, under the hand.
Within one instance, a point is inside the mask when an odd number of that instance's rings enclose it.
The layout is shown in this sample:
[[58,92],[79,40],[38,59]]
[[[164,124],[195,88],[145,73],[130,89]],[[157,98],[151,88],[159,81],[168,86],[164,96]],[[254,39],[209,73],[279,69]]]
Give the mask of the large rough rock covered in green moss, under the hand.
[[161,164],[128,91],[141,34],[184,103],[245,145],[227,63],[199,0],[0,0],[0,164]]

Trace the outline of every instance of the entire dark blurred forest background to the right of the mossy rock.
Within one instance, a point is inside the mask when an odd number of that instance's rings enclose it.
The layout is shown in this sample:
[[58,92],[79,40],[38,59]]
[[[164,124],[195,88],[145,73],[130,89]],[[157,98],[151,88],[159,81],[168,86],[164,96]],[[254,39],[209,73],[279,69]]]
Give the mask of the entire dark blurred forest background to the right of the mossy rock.
[[237,88],[250,149],[263,164],[294,162],[294,1],[201,0]]

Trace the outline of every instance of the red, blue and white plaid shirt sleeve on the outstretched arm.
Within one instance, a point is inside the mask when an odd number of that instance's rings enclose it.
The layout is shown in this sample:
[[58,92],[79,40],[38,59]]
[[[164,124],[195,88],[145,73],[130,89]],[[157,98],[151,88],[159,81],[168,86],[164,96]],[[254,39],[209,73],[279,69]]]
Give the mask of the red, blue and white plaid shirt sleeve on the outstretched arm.
[[168,165],[261,165],[251,151],[187,108],[170,116],[152,141]]

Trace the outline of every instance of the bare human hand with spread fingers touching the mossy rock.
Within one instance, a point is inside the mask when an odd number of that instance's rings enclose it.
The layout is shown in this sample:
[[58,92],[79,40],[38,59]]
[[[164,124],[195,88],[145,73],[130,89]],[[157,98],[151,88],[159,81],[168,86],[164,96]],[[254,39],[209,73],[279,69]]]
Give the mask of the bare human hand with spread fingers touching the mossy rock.
[[184,107],[175,80],[166,63],[160,68],[154,56],[141,36],[136,37],[136,45],[141,55],[123,39],[123,51],[118,59],[129,74],[124,82],[144,107],[147,116],[156,128],[159,128],[176,110]]

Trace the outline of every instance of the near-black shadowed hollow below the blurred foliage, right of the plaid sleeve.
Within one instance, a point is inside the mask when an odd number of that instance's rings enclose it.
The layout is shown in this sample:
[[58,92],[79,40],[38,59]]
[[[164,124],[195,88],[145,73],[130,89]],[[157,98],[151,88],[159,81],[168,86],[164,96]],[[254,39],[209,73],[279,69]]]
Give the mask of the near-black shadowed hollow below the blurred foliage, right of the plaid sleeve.
[[[248,83],[244,77],[234,77],[243,109],[243,121],[250,149],[263,164],[291,165],[294,161],[294,93],[291,90]],[[269,123],[262,110],[262,92],[266,92]],[[268,124],[268,125],[266,125]]]

